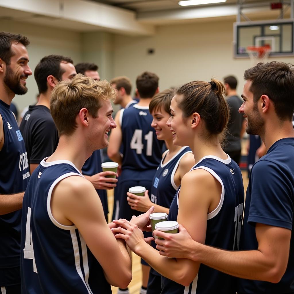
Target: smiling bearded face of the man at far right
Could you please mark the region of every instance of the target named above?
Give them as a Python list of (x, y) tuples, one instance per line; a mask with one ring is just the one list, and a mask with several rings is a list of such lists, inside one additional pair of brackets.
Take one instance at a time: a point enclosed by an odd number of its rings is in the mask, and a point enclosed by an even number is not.
[(250, 135), (262, 135), (264, 132), (264, 120), (260, 115), (258, 103), (253, 101), (253, 93), (250, 91), (251, 81), (246, 81), (241, 95), (244, 102), (239, 108), (246, 119), (246, 133)]

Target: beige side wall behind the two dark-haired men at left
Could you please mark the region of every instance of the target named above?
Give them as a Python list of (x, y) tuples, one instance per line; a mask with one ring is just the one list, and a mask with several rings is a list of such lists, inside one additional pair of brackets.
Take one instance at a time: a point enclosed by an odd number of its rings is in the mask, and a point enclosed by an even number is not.
[(81, 61), (80, 33), (10, 20), (1, 20), (1, 31), (22, 34), (31, 41), (28, 53), (29, 66), (33, 74), (27, 79), (28, 92), (25, 95), (16, 95), (13, 99), (19, 111), (27, 105), (35, 103), (38, 87), (34, 79), (34, 69), (42, 57), (49, 54), (60, 54), (70, 56), (75, 63)]

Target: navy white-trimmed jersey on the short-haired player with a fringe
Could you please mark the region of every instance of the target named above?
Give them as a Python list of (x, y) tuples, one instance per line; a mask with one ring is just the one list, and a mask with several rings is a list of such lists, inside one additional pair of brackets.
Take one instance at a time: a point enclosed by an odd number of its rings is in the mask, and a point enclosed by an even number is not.
[(190, 147), (182, 147), (173, 158), (163, 164), (165, 154), (153, 178), (151, 202), (167, 208), (171, 206), (178, 189), (174, 182), (174, 176), (182, 157), (187, 153), (192, 153)]

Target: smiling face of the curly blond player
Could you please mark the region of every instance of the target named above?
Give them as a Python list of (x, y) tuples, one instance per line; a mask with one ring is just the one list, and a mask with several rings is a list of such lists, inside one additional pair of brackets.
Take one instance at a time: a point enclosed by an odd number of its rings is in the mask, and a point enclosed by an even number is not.
[(91, 142), (93, 150), (108, 146), (108, 132), (116, 128), (116, 123), (112, 118), (113, 109), (109, 99), (101, 100), (101, 107), (98, 109), (97, 117), (93, 118), (93, 126), (90, 128)]

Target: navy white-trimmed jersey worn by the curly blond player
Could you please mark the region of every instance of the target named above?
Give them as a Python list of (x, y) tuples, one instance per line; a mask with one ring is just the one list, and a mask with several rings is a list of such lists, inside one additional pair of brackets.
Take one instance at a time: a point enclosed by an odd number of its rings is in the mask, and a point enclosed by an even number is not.
[(41, 161), (24, 194), (21, 234), (22, 293), (111, 293), (103, 269), (75, 225), (58, 223), (51, 194), (62, 179), (82, 176), (70, 161)]

